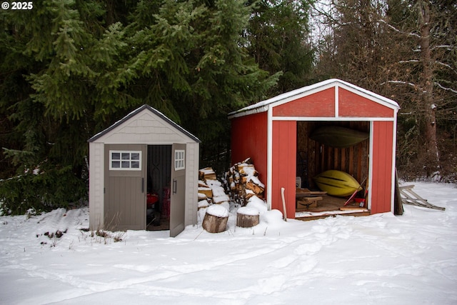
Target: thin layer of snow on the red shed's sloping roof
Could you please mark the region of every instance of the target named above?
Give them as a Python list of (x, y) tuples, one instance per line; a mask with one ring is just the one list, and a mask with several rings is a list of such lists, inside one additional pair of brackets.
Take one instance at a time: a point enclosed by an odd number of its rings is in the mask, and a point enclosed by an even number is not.
[(293, 96), (300, 96), (301, 94), (304, 94), (308, 91), (319, 89), (321, 87), (331, 87), (331, 85), (338, 84), (339, 86), (346, 87), (346, 89), (349, 89), (350, 91), (359, 91), (363, 94), (367, 94), (368, 96), (372, 96), (373, 99), (378, 99), (383, 102), (385, 102), (388, 105), (391, 105), (392, 108), (397, 108), (399, 109), (400, 107), (398, 106), (396, 101), (393, 101), (391, 99), (386, 98), (385, 96), (381, 96), (379, 94), (376, 94), (374, 92), (368, 91), (366, 89), (363, 89), (359, 86), (356, 86), (354, 84), (348, 83), (347, 81), (342, 81), (341, 79), (328, 79), (326, 81), (321, 81), (316, 84), (312, 84), (309, 86), (304, 86), (299, 89), (295, 89), (292, 91), (285, 92), (283, 94), (279, 94), (278, 96), (273, 96), (271, 99), (266, 99), (264, 101), (259, 101), (256, 104), (252, 104), (250, 106), (246, 106), (242, 109), (233, 111), (229, 113), (229, 119), (236, 117), (236, 116), (245, 116), (248, 114), (256, 114), (259, 112), (264, 112), (267, 111), (268, 108), (270, 107), (271, 104), (276, 103), (278, 101), (283, 101), (284, 99), (290, 99)]

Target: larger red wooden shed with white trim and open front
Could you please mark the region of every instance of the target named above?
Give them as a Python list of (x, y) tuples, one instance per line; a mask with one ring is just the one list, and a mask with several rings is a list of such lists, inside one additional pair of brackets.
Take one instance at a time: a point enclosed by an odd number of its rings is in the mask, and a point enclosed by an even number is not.
[[(251, 157), (271, 209), (283, 210), (284, 188), (288, 218), (296, 217), (297, 183), (317, 189), (313, 177), (327, 170), (350, 174), (363, 186), (365, 211), (393, 211), (398, 109), (395, 101), (339, 79), (305, 86), (229, 114), (231, 161)], [(367, 139), (349, 147), (311, 139), (324, 126)]]

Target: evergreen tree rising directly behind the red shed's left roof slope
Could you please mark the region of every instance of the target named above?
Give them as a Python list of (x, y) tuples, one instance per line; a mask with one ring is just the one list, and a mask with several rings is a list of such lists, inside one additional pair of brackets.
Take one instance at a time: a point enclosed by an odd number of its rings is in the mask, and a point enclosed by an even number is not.
[(261, 69), (282, 71), (270, 96), (305, 86), (313, 79), (308, 28), (310, 0), (258, 1), (246, 31), (248, 50)]

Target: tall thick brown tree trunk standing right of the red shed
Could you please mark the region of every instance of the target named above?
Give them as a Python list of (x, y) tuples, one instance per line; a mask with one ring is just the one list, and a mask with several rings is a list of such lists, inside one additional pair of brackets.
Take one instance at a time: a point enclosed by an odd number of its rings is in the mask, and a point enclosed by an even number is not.
[(418, 0), (421, 26), (421, 61), (423, 64), (423, 106), (425, 110), (426, 174), (431, 176), (439, 169), (439, 152), (436, 140), (436, 104), (433, 101), (433, 67), (430, 49), (430, 6), (429, 0)]

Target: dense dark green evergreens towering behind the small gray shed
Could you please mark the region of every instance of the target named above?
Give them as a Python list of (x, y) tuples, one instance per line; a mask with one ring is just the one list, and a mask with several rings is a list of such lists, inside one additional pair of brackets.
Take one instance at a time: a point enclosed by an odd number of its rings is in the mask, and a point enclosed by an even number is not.
[(87, 139), (141, 104), (199, 136), (204, 154), (226, 149), (226, 114), (278, 78), (246, 51), (251, 6), (239, 0), (46, 0), (0, 14), (1, 146), (16, 168), (0, 201), (13, 213), (84, 197)]

